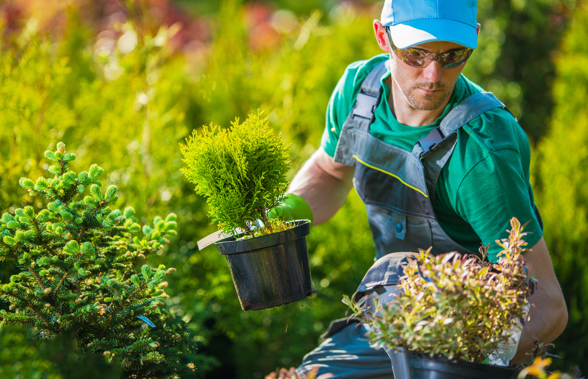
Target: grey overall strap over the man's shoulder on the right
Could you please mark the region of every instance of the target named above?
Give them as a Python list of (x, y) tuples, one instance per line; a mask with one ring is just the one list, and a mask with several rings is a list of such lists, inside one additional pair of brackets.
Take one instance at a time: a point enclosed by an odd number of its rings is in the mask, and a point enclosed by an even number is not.
[(413, 153), (419, 159), (425, 159), (452, 139), (457, 129), (493, 108), (508, 110), (492, 92), (479, 92), (468, 96), (447, 113), (441, 125), (431, 130), (426, 137), (418, 140)]

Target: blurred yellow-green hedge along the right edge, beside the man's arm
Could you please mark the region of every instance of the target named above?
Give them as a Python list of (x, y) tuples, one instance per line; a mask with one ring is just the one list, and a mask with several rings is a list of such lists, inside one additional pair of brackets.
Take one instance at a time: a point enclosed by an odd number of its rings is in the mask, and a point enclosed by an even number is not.
[(567, 328), (557, 338), (552, 368), (569, 370), (588, 361), (588, 8), (575, 12), (556, 59), (551, 129), (533, 162), (537, 204), (544, 237), (562, 284), (569, 312)]

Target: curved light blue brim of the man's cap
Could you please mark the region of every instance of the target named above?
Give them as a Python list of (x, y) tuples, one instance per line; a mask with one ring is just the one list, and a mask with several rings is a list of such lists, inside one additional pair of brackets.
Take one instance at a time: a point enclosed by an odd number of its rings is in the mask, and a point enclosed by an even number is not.
[(459, 43), (470, 49), (477, 47), (475, 26), (446, 18), (425, 18), (390, 26), (392, 41), (399, 49), (430, 41)]

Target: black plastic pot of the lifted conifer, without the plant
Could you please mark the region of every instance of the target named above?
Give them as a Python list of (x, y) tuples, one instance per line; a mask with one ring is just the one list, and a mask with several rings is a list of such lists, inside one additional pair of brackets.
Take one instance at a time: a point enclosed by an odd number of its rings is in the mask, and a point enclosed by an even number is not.
[(278, 307), (312, 296), (305, 238), (310, 221), (292, 223), (295, 227), (283, 232), (215, 243), (229, 264), (243, 310)]

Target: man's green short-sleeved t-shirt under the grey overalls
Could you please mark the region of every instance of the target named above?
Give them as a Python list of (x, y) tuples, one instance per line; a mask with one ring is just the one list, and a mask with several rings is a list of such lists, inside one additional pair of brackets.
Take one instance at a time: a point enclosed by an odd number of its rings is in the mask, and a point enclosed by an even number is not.
[[(343, 123), (355, 104), (363, 79), (387, 54), (376, 55), (367, 61), (348, 66), (329, 100), (326, 128), (321, 145), (333, 157)], [(407, 126), (399, 123), (388, 102), (390, 88), (381, 82), (385, 96), (375, 111), (375, 122), (370, 133), (402, 149), (413, 146), (460, 101), (473, 93), (483, 92), (480, 86), (465, 76), (457, 79), (455, 90), (435, 123), (426, 126)], [(332, 130), (332, 128), (334, 128)], [(480, 243), (490, 244), (489, 259), (501, 250), (496, 239), (506, 238), (510, 219), (530, 220), (525, 240), (532, 247), (543, 233), (534, 214), (533, 190), (529, 183), (530, 146), (527, 136), (516, 119), (505, 109), (495, 108), (482, 113), (457, 130), (453, 154), (443, 167), (435, 188), (433, 210), (440, 226), (455, 242), (466, 249), (477, 251)]]

